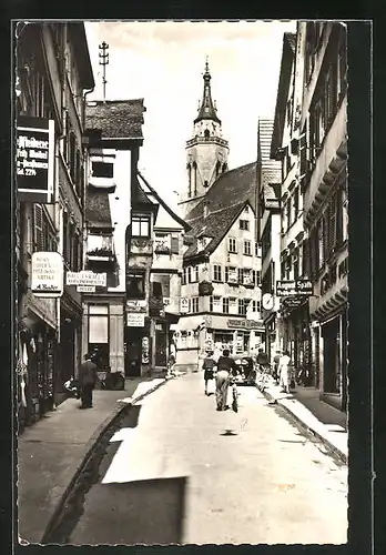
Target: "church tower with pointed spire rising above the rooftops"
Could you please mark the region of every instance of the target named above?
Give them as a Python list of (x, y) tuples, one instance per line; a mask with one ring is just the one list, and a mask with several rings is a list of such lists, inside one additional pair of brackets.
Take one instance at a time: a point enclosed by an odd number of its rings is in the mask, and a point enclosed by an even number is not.
[(186, 141), (186, 188), (179, 203), (186, 215), (205, 195), (215, 179), (227, 170), (228, 143), (222, 138), (221, 120), (212, 100), (206, 58), (203, 98), (194, 120), (193, 137)]

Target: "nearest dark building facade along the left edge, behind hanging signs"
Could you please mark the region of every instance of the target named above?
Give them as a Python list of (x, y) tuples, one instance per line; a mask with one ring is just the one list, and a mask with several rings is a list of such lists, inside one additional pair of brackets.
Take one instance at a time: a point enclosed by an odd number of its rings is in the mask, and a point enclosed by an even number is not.
[[(82, 264), (84, 103), (94, 80), (83, 23), (19, 22), (16, 37), (18, 393), (22, 428), (64, 398), (63, 384), (80, 361), (80, 295), (65, 285), (61, 297), (37, 295), (31, 279), (38, 252), (59, 253), (64, 271), (77, 271)], [(34, 142), (43, 150), (19, 148), (26, 129), (32, 127), (39, 135), (39, 128), (45, 125), (53, 132), (49, 153), (44, 141)], [(27, 170), (21, 169), (24, 165)], [(28, 185), (30, 190), (20, 186), (19, 175), (38, 180), (44, 168), (50, 194), (44, 196), (41, 182)]]

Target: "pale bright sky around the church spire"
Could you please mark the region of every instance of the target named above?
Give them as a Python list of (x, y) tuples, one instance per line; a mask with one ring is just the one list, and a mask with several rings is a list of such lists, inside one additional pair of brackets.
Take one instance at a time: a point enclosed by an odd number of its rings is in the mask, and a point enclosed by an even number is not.
[(105, 41), (106, 100), (144, 99), (139, 169), (172, 208), (187, 186), (185, 142), (206, 56), (228, 168), (256, 159), (257, 120), (274, 117), (283, 33), (295, 32), (294, 21), (109, 21), (87, 22), (85, 30), (96, 82), (88, 99), (103, 98), (98, 47)]

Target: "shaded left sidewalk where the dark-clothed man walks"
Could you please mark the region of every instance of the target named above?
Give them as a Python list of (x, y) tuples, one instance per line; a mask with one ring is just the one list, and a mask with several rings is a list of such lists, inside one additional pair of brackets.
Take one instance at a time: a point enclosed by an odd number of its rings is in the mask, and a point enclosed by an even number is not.
[(91, 410), (68, 398), (18, 440), (19, 541), (40, 543), (50, 518), (71, 487), (99, 436), (128, 406), (158, 389), (164, 379), (125, 381), (124, 391), (95, 390)]

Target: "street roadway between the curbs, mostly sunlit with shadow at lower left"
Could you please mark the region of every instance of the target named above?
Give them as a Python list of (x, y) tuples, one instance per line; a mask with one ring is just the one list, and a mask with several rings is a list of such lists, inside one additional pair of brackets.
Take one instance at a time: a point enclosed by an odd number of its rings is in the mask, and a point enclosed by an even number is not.
[(216, 412), (202, 373), (145, 397), (111, 438), (72, 544), (344, 544), (346, 467), (240, 387)]

